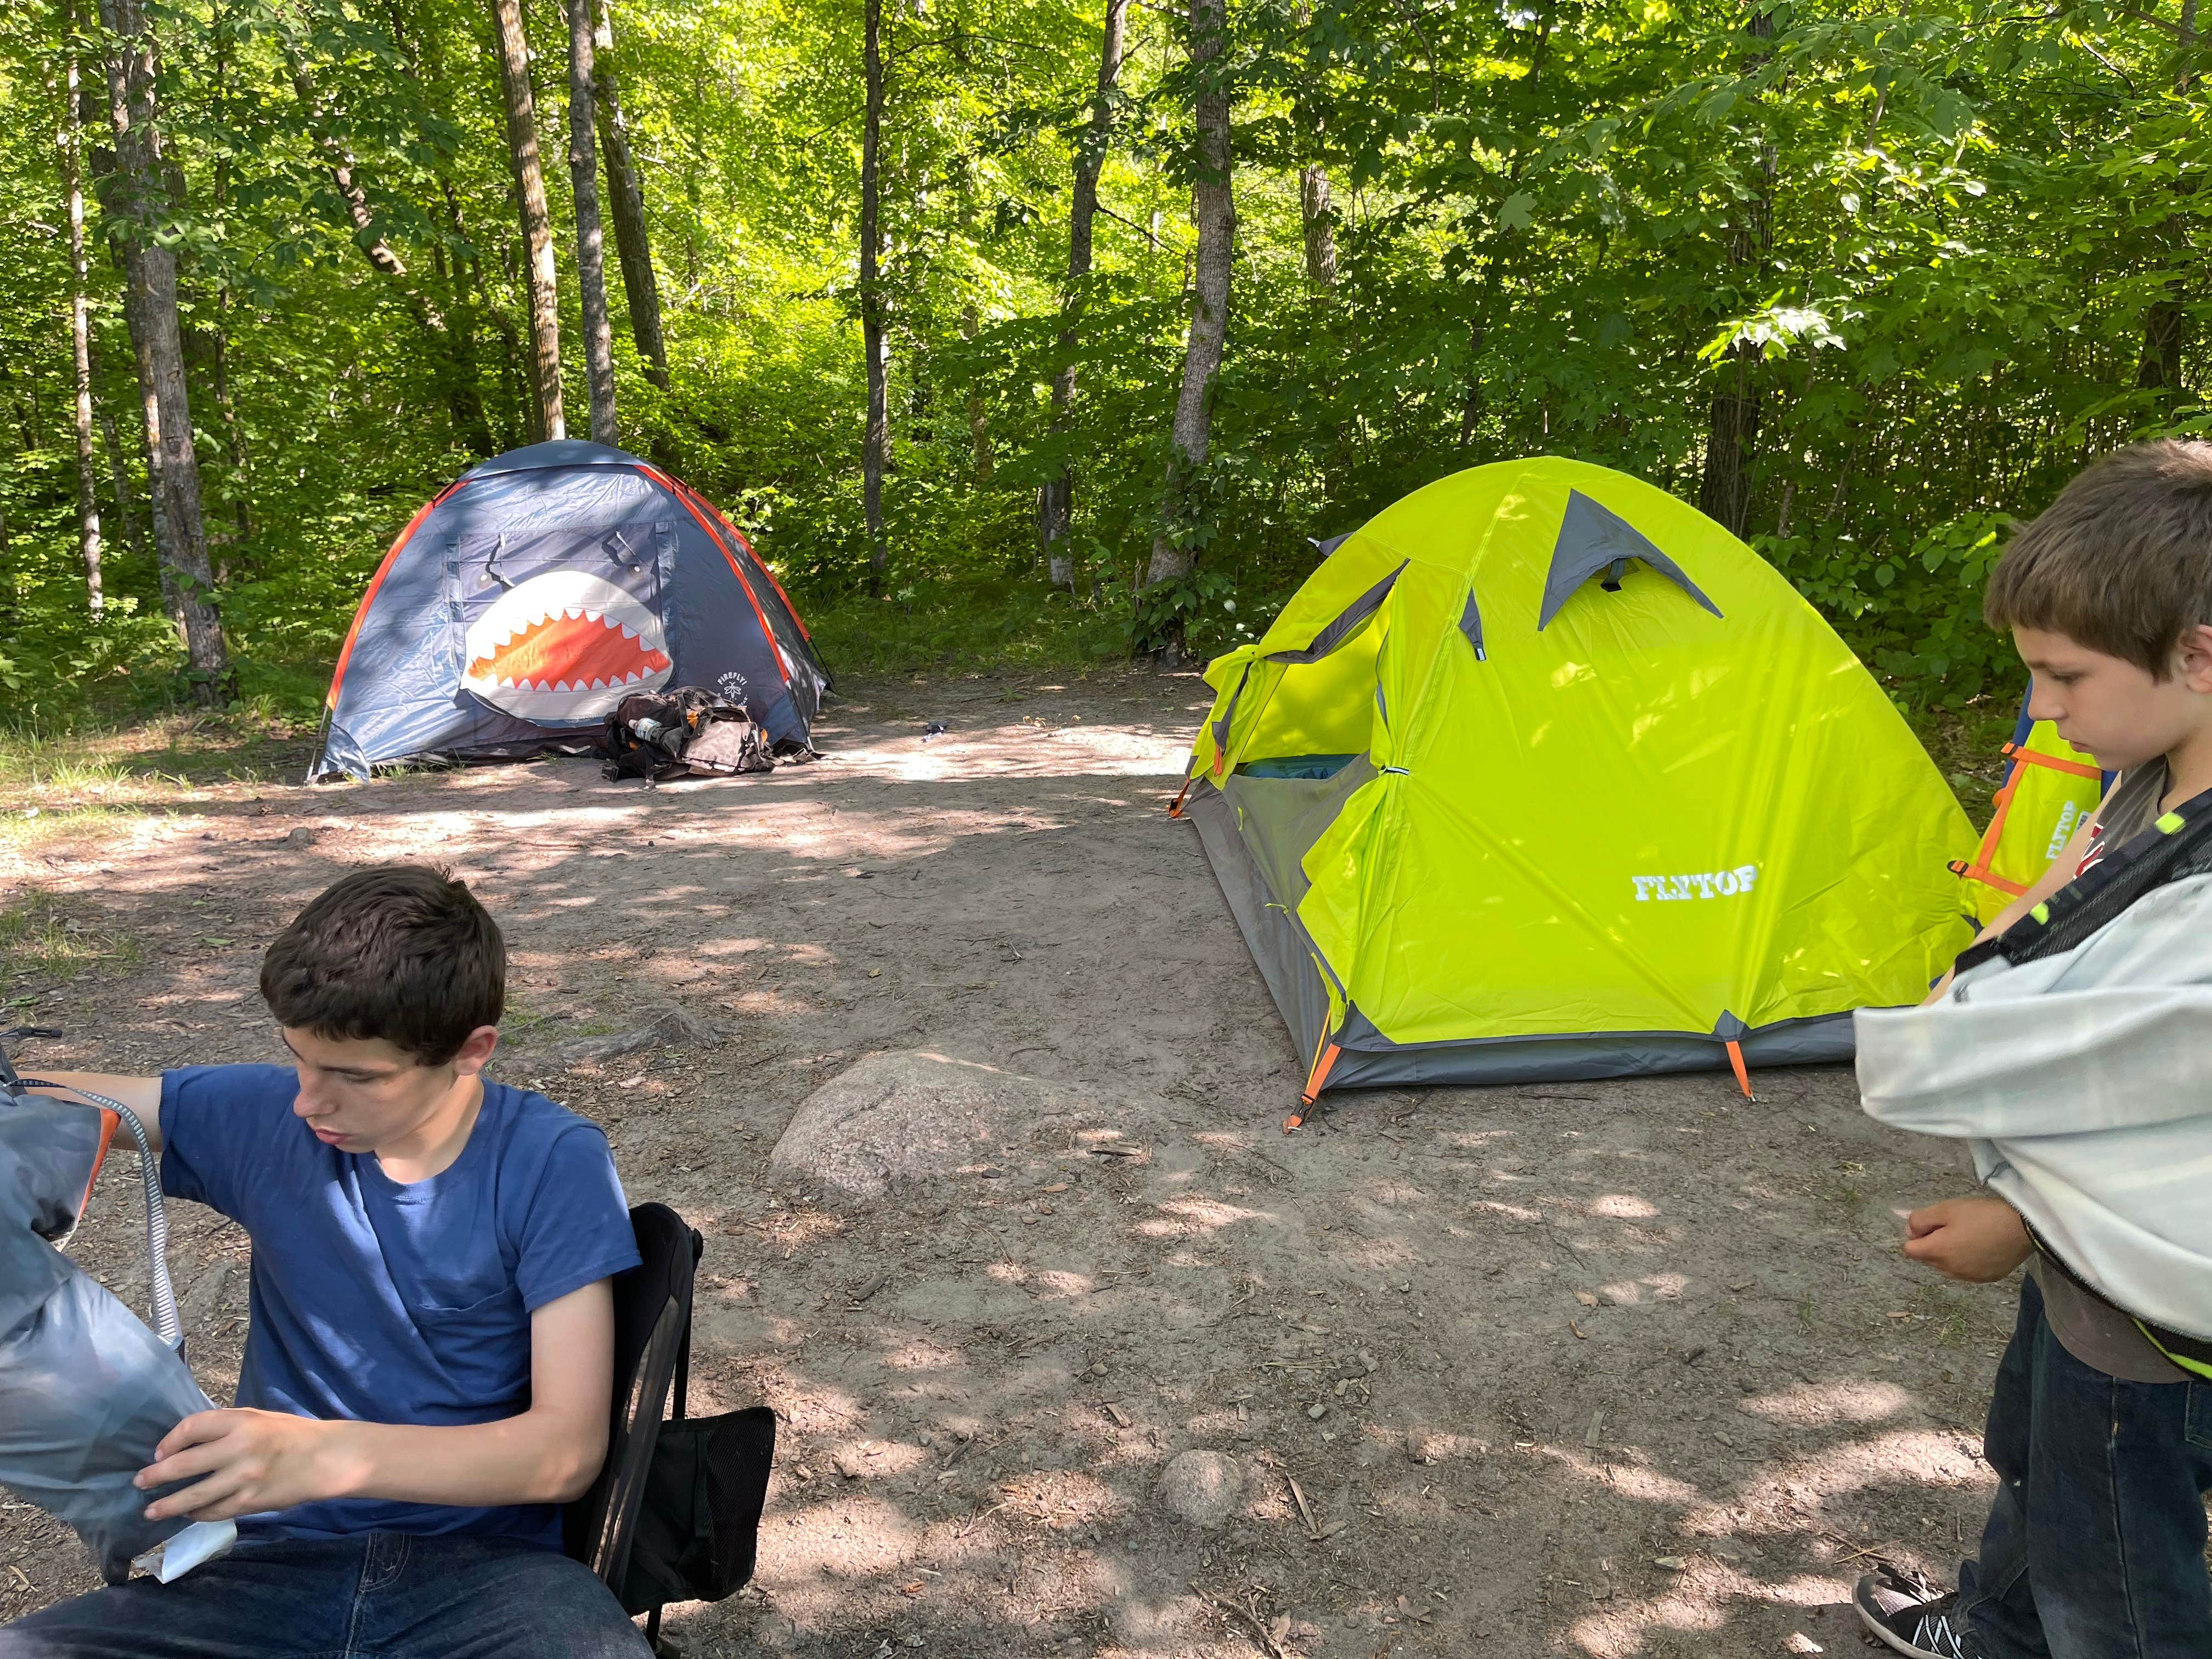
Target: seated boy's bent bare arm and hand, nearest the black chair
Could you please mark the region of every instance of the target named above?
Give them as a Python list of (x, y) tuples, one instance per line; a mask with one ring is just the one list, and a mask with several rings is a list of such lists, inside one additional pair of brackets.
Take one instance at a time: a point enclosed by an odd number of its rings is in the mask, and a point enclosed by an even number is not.
[(150, 1504), (148, 1520), (232, 1520), (330, 1498), (564, 1504), (584, 1495), (606, 1460), (613, 1394), (615, 1296), (599, 1279), (531, 1314), (531, 1405), (520, 1416), (425, 1429), (201, 1411), (168, 1431), (137, 1484), (199, 1478)]

